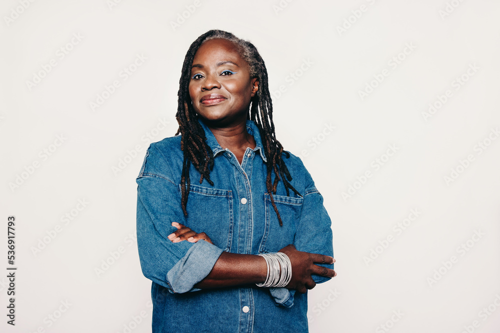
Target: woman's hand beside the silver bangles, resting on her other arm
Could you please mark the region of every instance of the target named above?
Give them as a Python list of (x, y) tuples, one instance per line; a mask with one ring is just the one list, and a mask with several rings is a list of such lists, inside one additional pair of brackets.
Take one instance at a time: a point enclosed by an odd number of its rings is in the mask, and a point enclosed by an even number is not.
[(335, 262), (335, 259), (332, 257), (300, 252), (292, 244), (285, 246), (278, 252), (287, 255), (291, 263), (291, 281), (285, 288), (295, 289), (297, 292), (304, 294), (307, 289), (312, 289), (316, 286), (316, 283), (312, 280), (312, 274), (330, 278), (337, 275), (334, 270), (314, 265), (314, 263), (332, 264)]

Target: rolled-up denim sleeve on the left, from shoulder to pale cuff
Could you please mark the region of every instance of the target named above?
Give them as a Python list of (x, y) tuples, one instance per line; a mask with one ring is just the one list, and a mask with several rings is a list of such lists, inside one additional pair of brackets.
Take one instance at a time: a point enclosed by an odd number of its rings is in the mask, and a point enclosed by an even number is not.
[[(159, 156), (158, 156), (159, 155)], [(178, 186), (168, 178), (167, 163), (151, 145), (136, 179), (137, 248), (142, 273), (171, 293), (198, 291), (193, 286), (210, 273), (222, 253), (218, 247), (198, 241), (172, 243), (167, 236), (185, 224)]]

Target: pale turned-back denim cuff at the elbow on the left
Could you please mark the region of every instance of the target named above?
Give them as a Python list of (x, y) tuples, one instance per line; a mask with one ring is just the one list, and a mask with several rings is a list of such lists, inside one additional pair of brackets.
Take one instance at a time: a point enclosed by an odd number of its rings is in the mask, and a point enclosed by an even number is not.
[(203, 240), (191, 246), (166, 274), (166, 280), (171, 293), (195, 292), (201, 289), (193, 288), (203, 280), (215, 265), (223, 251)]

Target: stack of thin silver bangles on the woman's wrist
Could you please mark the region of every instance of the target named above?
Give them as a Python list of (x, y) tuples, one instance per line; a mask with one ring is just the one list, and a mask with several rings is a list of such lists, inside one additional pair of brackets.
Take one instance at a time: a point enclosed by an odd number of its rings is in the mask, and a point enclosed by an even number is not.
[(291, 280), (291, 263), (287, 255), (282, 252), (260, 253), (267, 265), (267, 277), (264, 283), (255, 284), (257, 287), (284, 287)]

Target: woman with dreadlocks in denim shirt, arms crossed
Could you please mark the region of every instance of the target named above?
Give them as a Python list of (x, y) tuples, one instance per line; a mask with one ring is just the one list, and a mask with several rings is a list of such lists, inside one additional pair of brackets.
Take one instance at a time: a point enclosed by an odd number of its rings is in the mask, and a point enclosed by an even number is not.
[(136, 180), (153, 332), (307, 332), (306, 291), (335, 276), (330, 219), (276, 140), (262, 58), (210, 30), (179, 83), (181, 135), (151, 144)]

